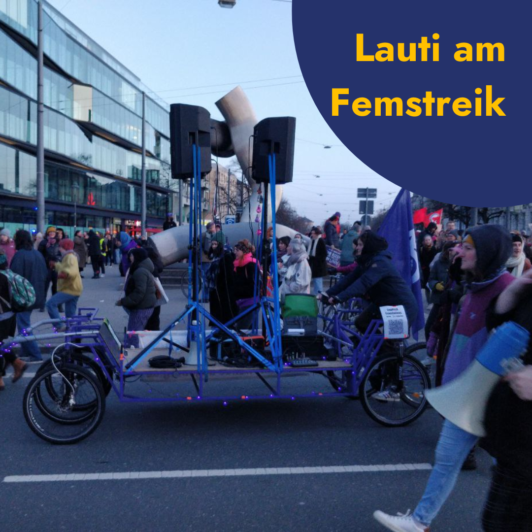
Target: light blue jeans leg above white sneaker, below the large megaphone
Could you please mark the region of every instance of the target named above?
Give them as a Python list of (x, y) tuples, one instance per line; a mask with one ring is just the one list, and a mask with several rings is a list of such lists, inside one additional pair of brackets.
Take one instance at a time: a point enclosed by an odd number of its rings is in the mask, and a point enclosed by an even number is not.
[(478, 437), (465, 432), (451, 421), (443, 422), (436, 445), (436, 460), (425, 493), (413, 513), (423, 525), (430, 525), (452, 492), (462, 464)]

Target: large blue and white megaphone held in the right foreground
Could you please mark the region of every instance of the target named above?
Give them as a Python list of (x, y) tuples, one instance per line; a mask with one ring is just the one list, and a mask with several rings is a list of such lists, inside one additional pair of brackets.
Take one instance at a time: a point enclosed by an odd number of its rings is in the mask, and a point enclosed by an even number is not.
[(469, 367), (450, 383), (427, 390), (427, 401), (445, 419), (470, 434), (483, 437), (489, 395), (505, 373), (505, 360), (518, 358), (530, 334), (513, 321), (498, 327)]

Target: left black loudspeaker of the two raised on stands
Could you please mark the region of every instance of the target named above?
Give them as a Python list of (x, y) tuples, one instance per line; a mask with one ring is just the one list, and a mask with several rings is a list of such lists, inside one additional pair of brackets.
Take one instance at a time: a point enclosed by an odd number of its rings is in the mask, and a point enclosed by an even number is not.
[(194, 173), (192, 145), (201, 148), (201, 174), (211, 171), (211, 115), (197, 105), (170, 105), (172, 178), (190, 179)]

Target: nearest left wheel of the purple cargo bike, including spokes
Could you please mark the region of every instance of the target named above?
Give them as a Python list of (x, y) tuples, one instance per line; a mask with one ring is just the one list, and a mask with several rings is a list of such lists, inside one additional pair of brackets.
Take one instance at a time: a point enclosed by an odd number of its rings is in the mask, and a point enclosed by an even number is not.
[[(48, 394), (52, 383), (54, 397)], [(93, 404), (90, 410), (74, 406)], [(50, 443), (76, 443), (97, 428), (105, 412), (102, 384), (94, 373), (77, 364), (64, 364), (61, 372), (53, 366), (36, 375), (23, 398), (24, 418), (39, 438)], [(53, 414), (53, 415), (51, 415)]]

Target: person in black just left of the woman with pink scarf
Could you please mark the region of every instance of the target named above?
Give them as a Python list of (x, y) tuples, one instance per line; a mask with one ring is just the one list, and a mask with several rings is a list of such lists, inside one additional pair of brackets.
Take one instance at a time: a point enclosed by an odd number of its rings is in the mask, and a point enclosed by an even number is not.
[[(209, 269), (205, 282), (209, 290), (209, 312), (220, 323), (226, 323), (238, 314), (235, 298), (235, 273), (232, 254), (218, 240), (211, 242)], [(214, 323), (210, 323), (214, 325)]]

